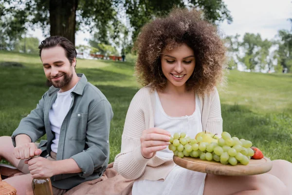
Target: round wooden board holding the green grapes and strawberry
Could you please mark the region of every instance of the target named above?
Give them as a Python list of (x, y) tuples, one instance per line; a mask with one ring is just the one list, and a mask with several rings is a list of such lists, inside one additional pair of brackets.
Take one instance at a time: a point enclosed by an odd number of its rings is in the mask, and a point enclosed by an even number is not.
[(186, 169), (207, 174), (222, 176), (251, 176), (267, 173), (272, 169), (272, 161), (269, 158), (250, 159), (248, 165), (237, 164), (223, 165), (216, 161), (201, 160), (200, 158), (173, 156), (173, 161)]

